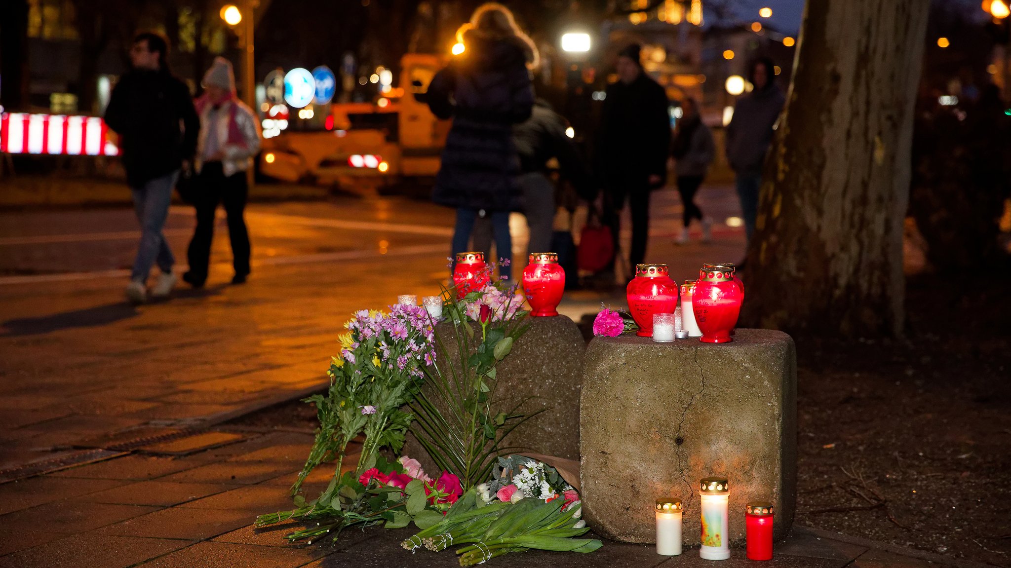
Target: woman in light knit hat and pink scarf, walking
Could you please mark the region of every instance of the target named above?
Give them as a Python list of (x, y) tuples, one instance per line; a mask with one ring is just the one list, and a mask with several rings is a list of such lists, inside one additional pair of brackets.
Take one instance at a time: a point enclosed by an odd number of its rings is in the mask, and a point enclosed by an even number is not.
[(224, 204), (227, 215), (236, 269), (232, 283), (242, 284), (249, 276), (250, 238), (243, 218), (249, 197), (246, 173), (260, 151), (259, 121), (253, 110), (236, 97), (236, 78), (228, 60), (214, 58), (202, 84), (204, 93), (196, 100), (200, 115), (195, 163), (196, 230), (187, 250), (189, 272), (183, 275), (183, 280), (194, 288), (203, 286), (207, 280), (218, 203)]

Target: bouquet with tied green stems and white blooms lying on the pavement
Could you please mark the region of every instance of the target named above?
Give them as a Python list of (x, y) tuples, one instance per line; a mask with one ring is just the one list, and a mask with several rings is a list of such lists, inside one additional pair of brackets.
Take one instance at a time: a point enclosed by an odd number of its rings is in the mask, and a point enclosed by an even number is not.
[(523, 456), (509, 456), (498, 459), (495, 479), (470, 489), (445, 518), (404, 540), (401, 546), (410, 551), (424, 547), (438, 552), (466, 545), (456, 551), (461, 566), (530, 549), (592, 552), (601, 548), (601, 541), (572, 538), (589, 531), (586, 522), (579, 518), (581, 513), (579, 493), (565, 484), (554, 468)]

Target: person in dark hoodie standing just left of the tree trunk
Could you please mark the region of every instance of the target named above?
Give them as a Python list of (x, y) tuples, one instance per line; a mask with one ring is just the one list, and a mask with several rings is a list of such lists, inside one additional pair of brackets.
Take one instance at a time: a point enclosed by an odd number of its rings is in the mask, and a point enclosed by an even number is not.
[(748, 241), (755, 230), (758, 188), (765, 153), (772, 143), (772, 130), (786, 98), (772, 80), (772, 60), (759, 58), (751, 63), (748, 81), (751, 92), (737, 99), (734, 116), (727, 124), (726, 151), (730, 168), (737, 177), (744, 231)]

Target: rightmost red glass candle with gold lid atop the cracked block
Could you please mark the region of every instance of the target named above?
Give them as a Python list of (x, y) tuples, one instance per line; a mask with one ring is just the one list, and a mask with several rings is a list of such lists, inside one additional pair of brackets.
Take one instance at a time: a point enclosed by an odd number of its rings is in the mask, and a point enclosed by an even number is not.
[(703, 269), (692, 294), (692, 310), (707, 344), (732, 342), (730, 332), (741, 312), (741, 290), (725, 268)]

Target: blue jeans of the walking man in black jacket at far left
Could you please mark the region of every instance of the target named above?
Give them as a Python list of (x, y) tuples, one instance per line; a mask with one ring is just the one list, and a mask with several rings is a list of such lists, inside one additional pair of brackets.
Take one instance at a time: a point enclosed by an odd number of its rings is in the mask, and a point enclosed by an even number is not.
[(137, 245), (130, 280), (146, 282), (156, 261), (158, 268), (165, 274), (172, 272), (172, 265), (176, 264), (162, 227), (169, 216), (172, 190), (178, 178), (179, 170), (176, 170), (167, 176), (148, 180), (143, 187), (130, 188), (133, 194), (133, 211), (136, 213), (136, 220), (141, 221), (141, 243)]

